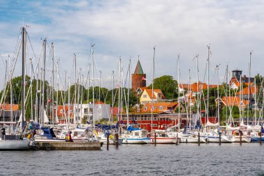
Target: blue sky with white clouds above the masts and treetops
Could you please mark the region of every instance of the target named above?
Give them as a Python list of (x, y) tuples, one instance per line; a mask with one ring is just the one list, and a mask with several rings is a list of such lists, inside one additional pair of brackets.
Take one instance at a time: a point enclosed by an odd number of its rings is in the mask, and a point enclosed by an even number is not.
[[(87, 79), (91, 45), (94, 45), (96, 68), (94, 78), (101, 85), (111, 86), (112, 70), (118, 72), (119, 58), (126, 75), (129, 59), (134, 71), (138, 56), (147, 84), (151, 83), (155, 52), (155, 77), (165, 74), (177, 79), (177, 58), (180, 56), (181, 83), (197, 81), (193, 59), (199, 54), (199, 77), (206, 79), (208, 45), (210, 45), (210, 82), (217, 83), (215, 66), (220, 65), (219, 81), (229, 71), (248, 74), (251, 54), (251, 75), (263, 75), (264, 65), (264, 1), (261, 0), (142, 0), (142, 1), (24, 1), (0, 0), (0, 87), (3, 87), (8, 55), (14, 55), (22, 26), (28, 32), (27, 63), (33, 65), (41, 55), (47, 38), (47, 80), (51, 77), (51, 42), (55, 62), (60, 60), (60, 88), (64, 75), (74, 80), (73, 58)], [(31, 45), (29, 44), (31, 42)], [(42, 62), (42, 58), (41, 58)], [(21, 75), (21, 56), (14, 76)], [(27, 66), (27, 74), (30, 74)], [(56, 76), (57, 77), (57, 76)], [(117, 79), (117, 77), (115, 77)], [(68, 80), (67, 80), (68, 81)]]

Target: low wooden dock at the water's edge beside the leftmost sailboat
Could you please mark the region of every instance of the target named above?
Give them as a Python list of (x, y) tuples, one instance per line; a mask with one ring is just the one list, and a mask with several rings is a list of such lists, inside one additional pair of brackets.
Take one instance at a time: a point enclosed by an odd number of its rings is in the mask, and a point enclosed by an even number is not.
[(101, 150), (99, 142), (36, 142), (36, 150)]

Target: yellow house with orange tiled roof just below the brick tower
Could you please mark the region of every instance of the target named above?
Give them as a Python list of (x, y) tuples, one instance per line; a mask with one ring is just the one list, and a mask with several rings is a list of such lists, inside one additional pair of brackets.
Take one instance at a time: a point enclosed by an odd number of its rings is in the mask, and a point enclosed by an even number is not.
[[(152, 101), (152, 90), (151, 89), (145, 89), (140, 96), (140, 104), (146, 104), (151, 103)], [(153, 90), (153, 101), (156, 102), (163, 102), (165, 101), (165, 96), (163, 95), (163, 92), (161, 92), (160, 89), (154, 89)]]

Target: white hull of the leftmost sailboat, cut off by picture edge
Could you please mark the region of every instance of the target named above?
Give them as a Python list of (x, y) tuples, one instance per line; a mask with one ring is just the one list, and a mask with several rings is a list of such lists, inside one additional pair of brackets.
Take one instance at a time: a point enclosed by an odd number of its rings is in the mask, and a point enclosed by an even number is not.
[(22, 140), (1, 140), (0, 150), (28, 150), (29, 142), (27, 138)]

